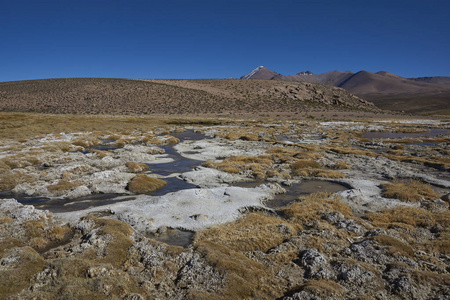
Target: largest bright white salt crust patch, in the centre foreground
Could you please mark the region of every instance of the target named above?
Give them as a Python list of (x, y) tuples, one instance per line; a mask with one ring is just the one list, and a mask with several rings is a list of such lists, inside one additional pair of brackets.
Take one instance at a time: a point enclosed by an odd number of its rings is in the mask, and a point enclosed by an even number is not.
[(273, 197), (280, 189), (277, 184), (265, 184), (252, 189), (217, 187), (181, 190), (160, 197), (139, 195), (136, 200), (57, 215), (65, 221), (74, 222), (95, 211), (111, 210), (114, 212), (112, 217), (127, 222), (139, 231), (155, 231), (161, 226), (199, 230), (237, 219), (242, 208), (264, 208), (263, 201)]

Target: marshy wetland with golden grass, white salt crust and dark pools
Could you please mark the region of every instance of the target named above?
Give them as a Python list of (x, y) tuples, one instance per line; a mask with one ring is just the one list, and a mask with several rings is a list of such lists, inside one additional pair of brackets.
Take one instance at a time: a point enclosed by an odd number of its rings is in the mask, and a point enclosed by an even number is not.
[(450, 294), (445, 119), (0, 125), (1, 299)]

